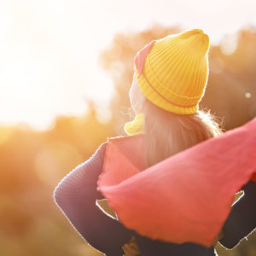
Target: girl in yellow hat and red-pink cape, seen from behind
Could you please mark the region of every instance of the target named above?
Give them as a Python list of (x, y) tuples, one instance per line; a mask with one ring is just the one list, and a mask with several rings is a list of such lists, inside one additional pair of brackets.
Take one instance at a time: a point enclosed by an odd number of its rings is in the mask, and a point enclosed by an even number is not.
[[(223, 136), (212, 115), (198, 108), (208, 48), (207, 34), (193, 29), (140, 50), (129, 136), (108, 139), (55, 188), (55, 202), (73, 227), (108, 256), (216, 255), (219, 238), (234, 247), (256, 226), (256, 119)], [(230, 157), (235, 166), (227, 165)], [(245, 183), (245, 196), (230, 212)], [(117, 219), (96, 206), (103, 198)]]

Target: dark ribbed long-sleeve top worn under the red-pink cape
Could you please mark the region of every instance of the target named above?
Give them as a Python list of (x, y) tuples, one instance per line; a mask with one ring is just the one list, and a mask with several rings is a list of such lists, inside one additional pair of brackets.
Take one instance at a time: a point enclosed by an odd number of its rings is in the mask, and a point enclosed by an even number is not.
[[(135, 236), (142, 256), (178, 255), (178, 256), (213, 256), (213, 247), (202, 247), (195, 243), (176, 244), (151, 240), (140, 236), (135, 230), (127, 229), (117, 219), (108, 216), (96, 206), (96, 200), (103, 199), (97, 191), (97, 179), (102, 173), (104, 155), (108, 143), (96, 150), (89, 160), (63, 177), (54, 191), (54, 200), (79, 235), (90, 246), (107, 256), (123, 255), (122, 246)], [(232, 248), (256, 227), (256, 183), (250, 181), (243, 188), (244, 195), (232, 207), (220, 242), (224, 247)]]

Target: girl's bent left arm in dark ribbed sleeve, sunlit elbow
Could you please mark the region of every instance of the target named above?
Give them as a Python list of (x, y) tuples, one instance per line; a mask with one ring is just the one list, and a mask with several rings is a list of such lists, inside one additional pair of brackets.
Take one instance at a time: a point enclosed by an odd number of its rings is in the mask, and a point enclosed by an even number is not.
[(103, 143), (89, 160), (69, 172), (55, 188), (53, 197), (85, 241), (108, 256), (116, 256), (123, 255), (122, 246), (131, 239), (131, 230), (96, 206), (96, 199), (103, 198), (96, 190), (96, 182), (106, 147), (107, 143)]

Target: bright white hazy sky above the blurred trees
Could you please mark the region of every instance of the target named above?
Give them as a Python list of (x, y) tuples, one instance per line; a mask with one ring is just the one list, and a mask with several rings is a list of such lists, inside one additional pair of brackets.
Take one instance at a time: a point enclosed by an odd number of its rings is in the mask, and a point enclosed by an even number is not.
[(113, 83), (98, 56), (117, 32), (201, 28), (213, 45), (256, 26), (255, 10), (254, 0), (0, 0), (0, 125), (44, 131), (86, 113), (86, 100), (103, 122)]

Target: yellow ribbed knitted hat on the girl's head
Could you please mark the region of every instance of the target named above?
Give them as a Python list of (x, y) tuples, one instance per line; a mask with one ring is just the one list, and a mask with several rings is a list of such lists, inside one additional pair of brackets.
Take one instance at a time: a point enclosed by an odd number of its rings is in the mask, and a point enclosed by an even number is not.
[(195, 113), (207, 85), (208, 49), (209, 38), (201, 29), (147, 44), (135, 57), (143, 96), (172, 113)]

